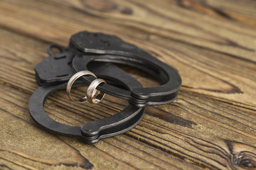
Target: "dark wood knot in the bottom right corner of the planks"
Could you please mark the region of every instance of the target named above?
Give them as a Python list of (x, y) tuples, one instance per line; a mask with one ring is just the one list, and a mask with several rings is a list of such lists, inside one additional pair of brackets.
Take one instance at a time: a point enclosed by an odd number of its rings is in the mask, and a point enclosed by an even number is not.
[(228, 141), (228, 148), (232, 154), (233, 165), (243, 169), (256, 169), (256, 147)]

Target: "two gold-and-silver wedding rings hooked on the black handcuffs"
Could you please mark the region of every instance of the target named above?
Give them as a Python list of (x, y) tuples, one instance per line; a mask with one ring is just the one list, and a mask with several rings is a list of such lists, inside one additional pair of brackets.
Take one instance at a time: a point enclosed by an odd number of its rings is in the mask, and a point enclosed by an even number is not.
[[(72, 86), (77, 79), (79, 79), (82, 76), (86, 76), (86, 75), (93, 76), (96, 79), (94, 81), (92, 81), (92, 83), (88, 86), (87, 93), (86, 93), (85, 97), (82, 97), (80, 99), (74, 99), (71, 95)], [(76, 74), (73, 75), (73, 77), (71, 77), (69, 79), (68, 84), (66, 86), (66, 91), (68, 93), (68, 97), (70, 98), (70, 100), (74, 101), (75, 103), (85, 103), (85, 102), (89, 101), (90, 103), (96, 104), (96, 103), (99, 103), (102, 100), (102, 98), (104, 98), (104, 96), (105, 96), (104, 92), (98, 91), (96, 89), (97, 86), (99, 86), (100, 84), (106, 84), (106, 81), (104, 79), (97, 79), (95, 74), (93, 74), (90, 71), (81, 71), (81, 72), (77, 72)]]

